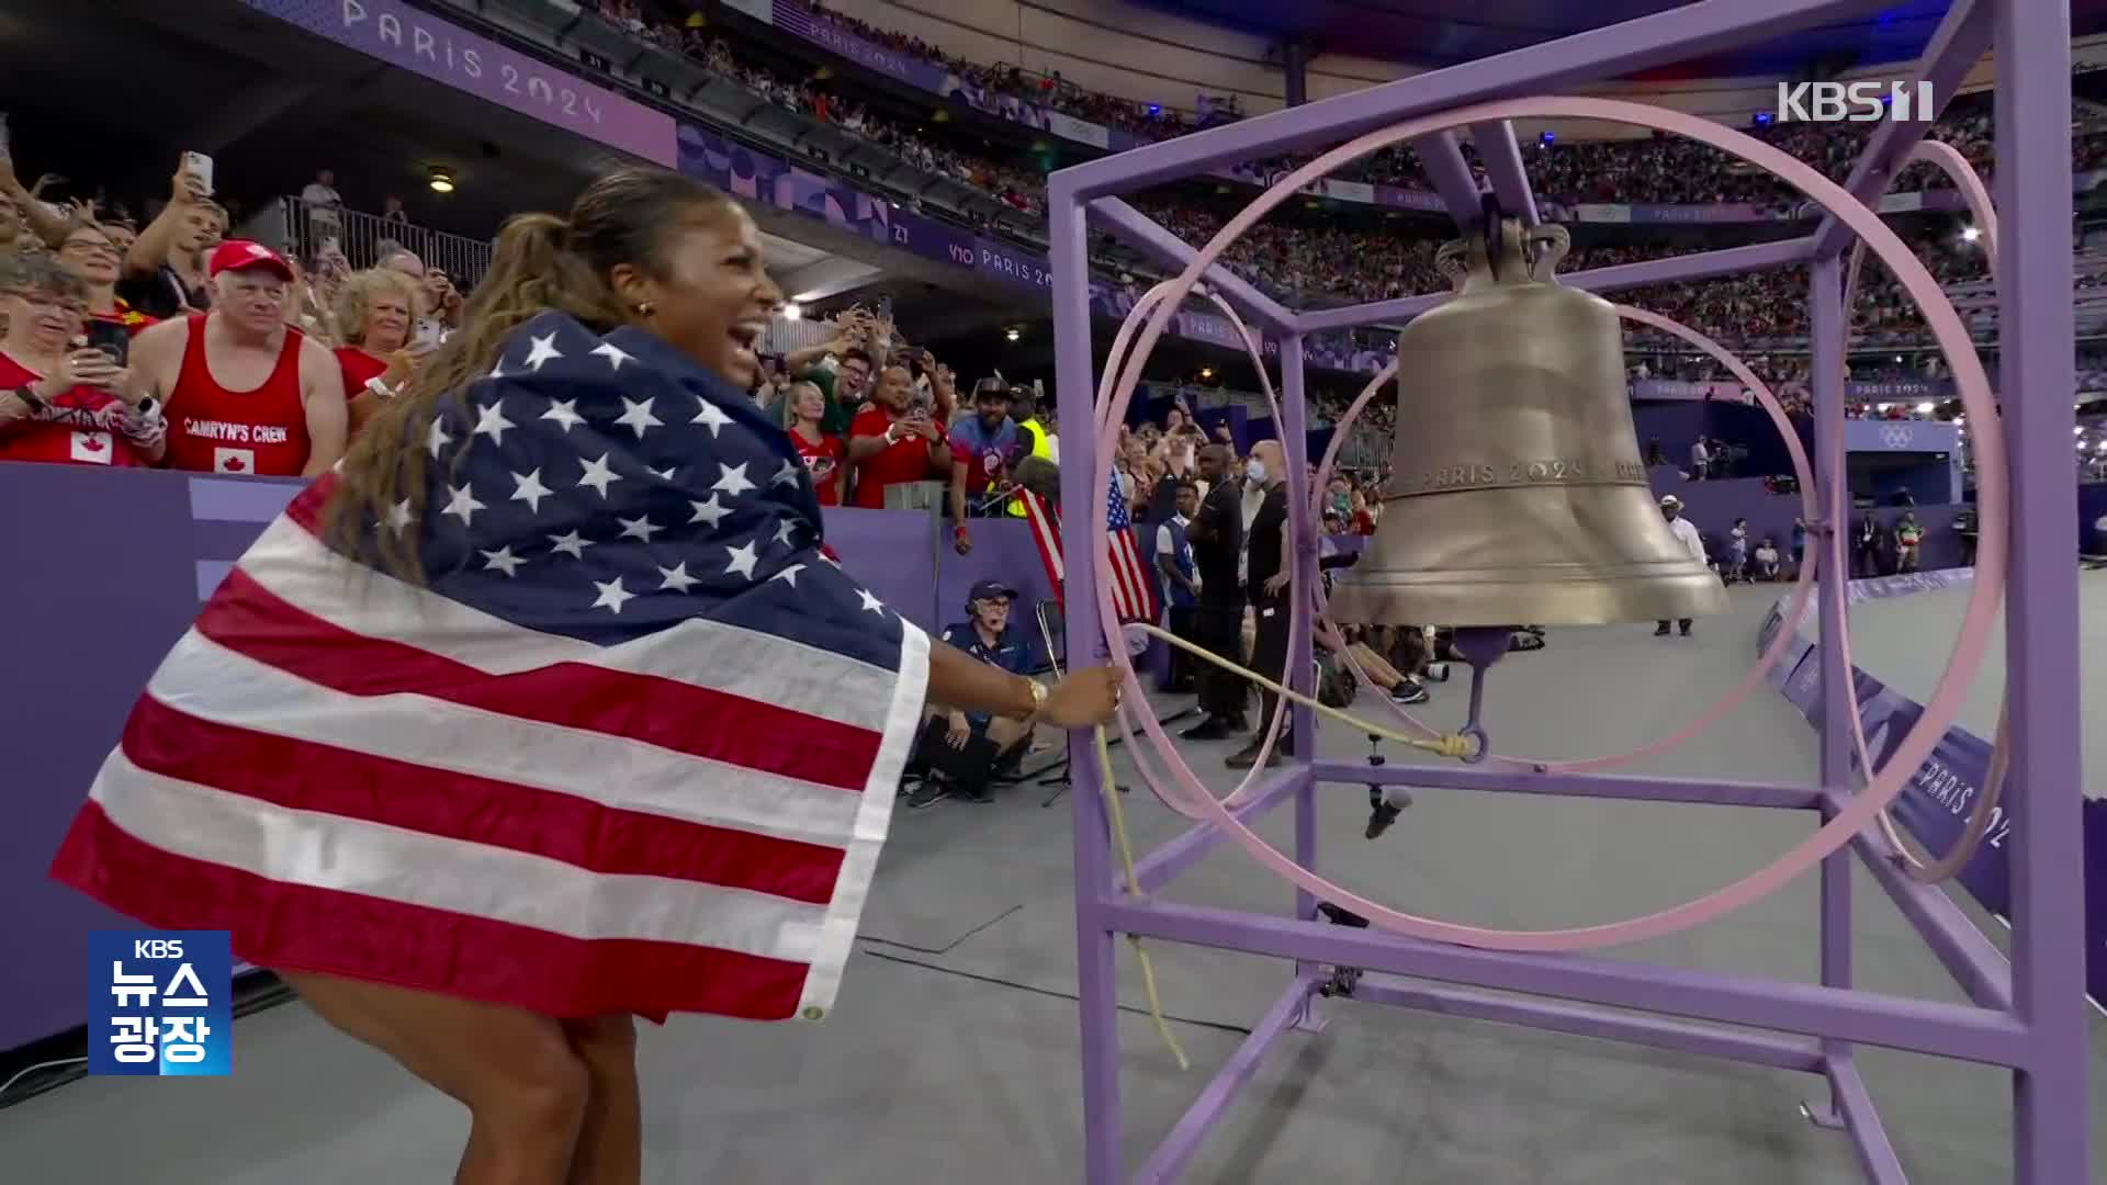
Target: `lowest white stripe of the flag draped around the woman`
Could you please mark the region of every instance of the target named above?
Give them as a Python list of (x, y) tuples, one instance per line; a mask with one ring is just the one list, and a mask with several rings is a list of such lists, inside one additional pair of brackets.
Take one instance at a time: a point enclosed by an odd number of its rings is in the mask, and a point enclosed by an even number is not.
[(445, 909), (571, 938), (636, 938), (809, 964), (820, 907), (289, 810), (150, 774), (118, 749), (91, 797), (137, 839), (272, 881)]

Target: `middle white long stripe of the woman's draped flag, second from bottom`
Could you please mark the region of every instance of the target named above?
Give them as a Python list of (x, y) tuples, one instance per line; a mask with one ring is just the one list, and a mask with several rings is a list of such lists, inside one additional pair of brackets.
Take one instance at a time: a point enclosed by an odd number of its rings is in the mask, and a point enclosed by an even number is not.
[[(775, 664), (769, 671), (782, 668)], [(917, 696), (923, 681), (914, 683)], [(858, 827), (862, 795), (855, 791), (430, 696), (352, 696), (257, 662), (196, 630), (175, 643), (147, 694), (215, 723), (575, 795), (617, 810), (830, 848), (845, 846)], [(710, 721), (695, 721), (695, 727), (710, 727)], [(476, 744), (464, 744), (468, 736)], [(885, 797), (891, 795), (887, 789)]]

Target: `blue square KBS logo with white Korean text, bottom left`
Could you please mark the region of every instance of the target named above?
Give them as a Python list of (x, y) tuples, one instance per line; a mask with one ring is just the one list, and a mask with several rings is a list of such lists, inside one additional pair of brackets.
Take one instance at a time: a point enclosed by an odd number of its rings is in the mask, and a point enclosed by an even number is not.
[(225, 930), (88, 932), (88, 1073), (232, 1073)]

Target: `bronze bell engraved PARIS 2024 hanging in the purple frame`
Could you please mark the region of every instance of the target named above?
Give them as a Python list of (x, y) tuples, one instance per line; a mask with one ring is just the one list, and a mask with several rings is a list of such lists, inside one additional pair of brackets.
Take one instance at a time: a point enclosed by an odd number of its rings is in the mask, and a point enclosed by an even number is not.
[(1488, 226), (1441, 247), (1456, 295), (1397, 335), (1382, 517), (1332, 616), (1589, 626), (1726, 609), (1646, 483), (1616, 310), (1553, 278), (1566, 228)]

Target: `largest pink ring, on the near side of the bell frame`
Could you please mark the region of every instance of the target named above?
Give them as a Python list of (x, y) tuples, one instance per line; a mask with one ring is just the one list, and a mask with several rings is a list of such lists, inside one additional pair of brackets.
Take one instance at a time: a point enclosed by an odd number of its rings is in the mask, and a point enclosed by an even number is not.
[[(1104, 512), (1106, 487), (1110, 483), (1110, 426), (1123, 415), (1125, 405), (1134, 396), (1134, 386), (1140, 380), (1140, 367), (1146, 365), (1157, 339), (1163, 335), (1163, 327), (1169, 323), (1169, 314), (1176, 302), (1184, 297), (1199, 280), (1201, 270), (1212, 266), (1222, 249), (1252, 228), (1260, 217), (1264, 217), (1273, 207), (1287, 200), (1289, 194), (1300, 190), (1315, 177), (1336, 169), (1344, 160), (1353, 160), (1376, 148), (1397, 143), (1401, 139), (1426, 135), (1456, 124), (1500, 120), (1500, 118), (1597, 118), (1612, 122), (1629, 122), (1639, 127), (1654, 127), (1662, 131), (1675, 131), (1688, 135), (1690, 139), (1711, 143), (1724, 152), (1736, 154), (1780, 179), (1793, 183), (1797, 190), (1825, 207), (1839, 221), (1858, 232), (1860, 238), (1869, 240), (1890, 270), (1903, 280), (1903, 287), (1911, 297), (1917, 299), (1924, 316), (1938, 339), (1941, 350), (1947, 354), (1949, 365), (1962, 394), (1962, 403), (1976, 415), (1983, 424), (1978, 436), (1978, 470), (1989, 479), (1978, 487), (1978, 506), (1983, 508), (1983, 536), (1976, 546), (1978, 576), (1970, 590), (1968, 611), (1962, 620), (1962, 633), (1955, 639), (1953, 654), (1947, 660), (1947, 668), (1941, 677), (1938, 689), (1930, 696), (1917, 723), (1903, 738), (1888, 768), (1873, 776), (1865, 793), (1854, 795), (1850, 805), (1837, 812), (1829, 822), (1825, 822), (1814, 835), (1806, 837), (1793, 846), (1785, 856), (1766, 865), (1764, 869), (1734, 881), (1709, 896), (1681, 902), (1677, 907), (1650, 913), (1643, 917), (1631, 917), (1624, 921), (1608, 926), (1584, 926), (1572, 930), (1488, 930), (1477, 926), (1458, 926), (1452, 921), (1439, 921), (1431, 917), (1416, 917), (1410, 913), (1399, 913), (1376, 905), (1359, 894), (1353, 894), (1323, 877), (1317, 877), (1308, 869), (1296, 865), (1294, 860), (1281, 856), (1277, 850), (1266, 846), (1258, 835), (1245, 829), (1230, 816), (1222, 803), (1218, 803), (1205, 786), (1193, 778), (1190, 768), (1176, 759), (1176, 749), (1163, 734), (1163, 727), (1153, 719), (1142, 717), (1142, 727), (1157, 744), (1159, 753), (1169, 755), (1182, 789), (1190, 795), (1188, 801), (1199, 805), (1218, 827), (1224, 827), (1245, 852), (1249, 852), (1260, 865), (1273, 869), (1283, 879), (1304, 888), (1308, 892), (1321, 894), (1327, 900), (1363, 913), (1372, 924), (1384, 930), (1412, 934), (1418, 938), (1431, 938), (1441, 943), (1460, 943), (1471, 947), (1488, 949), (1511, 949), (1511, 951), (1574, 951), (1589, 947), (1606, 947), (1614, 943), (1635, 943), (1660, 934), (1673, 934), (1690, 926), (1726, 915), (1740, 909), (1780, 886), (1793, 877), (1812, 869), (1818, 860), (1839, 850), (1850, 837), (1867, 827), (1871, 818), (1886, 808), (1896, 793), (1901, 793), (1907, 774), (1913, 772), (1930, 755), (1938, 736), (1951, 725), (1953, 717), (1960, 713), (1962, 698), (1966, 696), (1966, 683), (1976, 673), (1983, 662), (1983, 652), (1987, 649), (1989, 630), (1993, 628), (1993, 618), (1997, 614), (1997, 603), (2004, 595), (2004, 567), (2006, 567), (2006, 451), (2002, 426), (1989, 415), (1993, 403), (1989, 394), (1989, 380), (1983, 371), (1981, 358), (1974, 356), (1966, 327), (1953, 304), (1945, 297), (1938, 285), (1926, 272), (1924, 264), (1911, 255), (1903, 240), (1888, 230), (1879, 217), (1869, 211), (1863, 202), (1854, 200), (1842, 186), (1823, 177), (1808, 164), (1787, 156), (1785, 152), (1761, 143), (1745, 133), (1713, 124), (1709, 120), (1686, 116), (1681, 112), (1671, 112), (1662, 108), (1650, 108), (1643, 103), (1629, 103), (1618, 99), (1578, 99), (1578, 97), (1536, 97), (1536, 99), (1511, 99), (1498, 103), (1477, 103), (1469, 108), (1458, 108), (1452, 112), (1420, 116), (1403, 120), (1389, 129), (1380, 129), (1357, 137), (1340, 148), (1334, 148), (1319, 156), (1317, 160), (1296, 169), (1287, 177), (1279, 179), (1271, 190), (1260, 194), (1249, 207), (1245, 207), (1237, 217), (1233, 217), (1216, 236), (1203, 247), (1197, 257), (1186, 264), (1180, 272), (1176, 289), (1165, 297), (1155, 316), (1148, 320), (1148, 329), (1142, 333), (1136, 346), (1136, 356), (1129, 361), (1119, 386), (1112, 392), (1112, 407), (1104, 417), (1104, 428), (1098, 439), (1098, 462), (1094, 472), (1094, 485), (1089, 489), (1091, 512)], [(1289, 474), (1296, 479), (1296, 474)], [(1100, 563), (1108, 559), (1110, 540), (1096, 540)], [(1100, 584), (1096, 588), (1100, 611), (1106, 622), (1106, 639), (1112, 643), (1112, 662), (1119, 664), (1121, 675), (1129, 683), (1129, 689), (1140, 689), (1140, 679), (1134, 675), (1134, 662), (1125, 656), (1125, 647), (1117, 639), (1117, 614), (1112, 611), (1110, 586)]]

